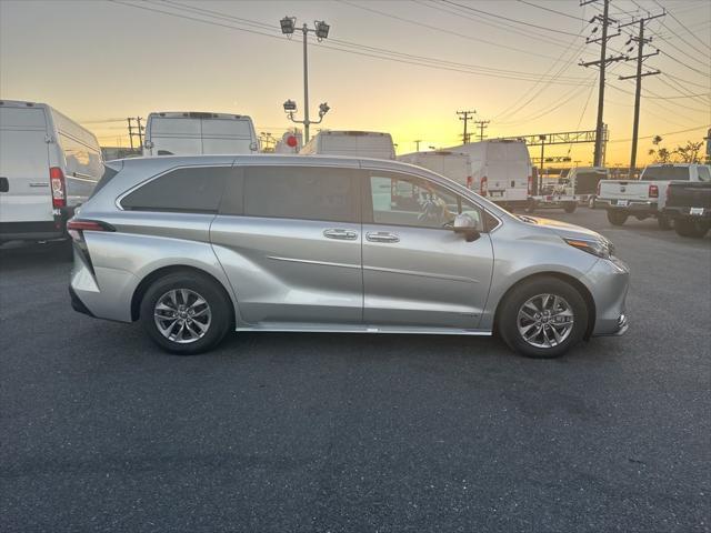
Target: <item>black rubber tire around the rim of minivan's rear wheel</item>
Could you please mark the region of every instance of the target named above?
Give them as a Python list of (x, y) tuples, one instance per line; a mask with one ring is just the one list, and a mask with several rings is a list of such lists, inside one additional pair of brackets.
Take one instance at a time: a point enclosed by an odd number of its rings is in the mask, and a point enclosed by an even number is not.
[[(170, 291), (180, 289), (186, 289), (202, 298), (207, 302), (211, 314), (207, 323), (207, 331), (202, 336), (186, 343), (164, 336), (153, 319), (154, 309), (159, 300)], [(139, 320), (151, 340), (163, 350), (178, 355), (192, 355), (211, 350), (222, 341), (233, 323), (232, 304), (222, 286), (206, 274), (194, 271), (173, 272), (156, 280), (148, 288), (141, 300)], [(194, 324), (194, 322), (192, 323)], [(201, 323), (201, 325), (204, 324)], [(196, 325), (192, 328), (197, 331)], [(176, 332), (174, 329), (172, 331)]]

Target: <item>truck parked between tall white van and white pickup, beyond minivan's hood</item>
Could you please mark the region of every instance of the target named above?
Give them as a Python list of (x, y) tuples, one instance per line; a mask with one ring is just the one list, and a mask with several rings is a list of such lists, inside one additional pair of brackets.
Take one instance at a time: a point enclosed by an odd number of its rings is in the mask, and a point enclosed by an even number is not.
[(600, 181), (609, 178), (608, 169), (603, 167), (575, 167), (570, 169), (559, 183), (550, 191), (529, 198), (527, 211), (535, 209), (562, 208), (567, 213), (575, 211), (578, 205), (595, 208), (597, 191)]

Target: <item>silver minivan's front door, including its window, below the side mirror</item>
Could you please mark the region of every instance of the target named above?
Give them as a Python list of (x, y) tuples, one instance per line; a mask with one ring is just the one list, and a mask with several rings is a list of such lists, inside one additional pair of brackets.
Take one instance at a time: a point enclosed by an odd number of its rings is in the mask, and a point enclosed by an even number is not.
[(491, 241), (481, 233), (468, 242), (451, 222), (464, 212), (481, 223), (481, 209), (408, 174), (370, 172), (365, 181), (365, 324), (477, 329), (491, 282)]

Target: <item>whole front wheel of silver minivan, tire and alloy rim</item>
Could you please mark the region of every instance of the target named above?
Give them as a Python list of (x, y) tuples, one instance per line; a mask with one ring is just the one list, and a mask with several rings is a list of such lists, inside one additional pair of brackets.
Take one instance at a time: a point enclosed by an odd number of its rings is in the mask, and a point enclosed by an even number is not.
[(515, 286), (501, 304), (498, 329), (504, 342), (528, 358), (563, 355), (588, 329), (580, 292), (558, 278), (537, 278)]

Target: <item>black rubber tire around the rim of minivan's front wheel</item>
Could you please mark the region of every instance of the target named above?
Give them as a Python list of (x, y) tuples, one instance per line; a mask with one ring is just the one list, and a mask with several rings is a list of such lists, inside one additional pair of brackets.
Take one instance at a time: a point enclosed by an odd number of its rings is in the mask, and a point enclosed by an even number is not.
[[(572, 331), (558, 345), (550, 348), (534, 346), (527, 342), (519, 332), (519, 311), (525, 302), (539, 294), (562, 298), (572, 310)], [(507, 294), (497, 313), (498, 331), (503, 341), (517, 353), (534, 359), (552, 359), (563, 355), (571, 346), (583, 339), (588, 329), (588, 305), (580, 292), (570, 283), (553, 276), (533, 278), (518, 284)]]

